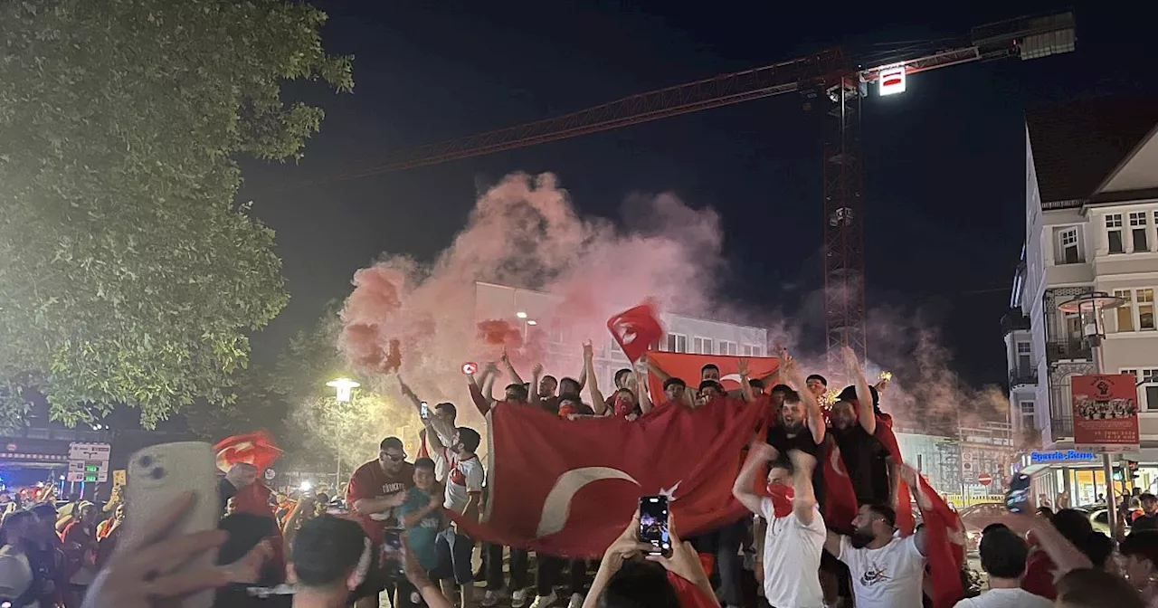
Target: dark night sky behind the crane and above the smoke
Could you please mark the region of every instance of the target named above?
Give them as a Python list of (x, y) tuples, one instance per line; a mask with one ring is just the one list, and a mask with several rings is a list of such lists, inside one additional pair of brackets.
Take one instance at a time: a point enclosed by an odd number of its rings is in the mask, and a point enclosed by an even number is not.
[[(724, 295), (791, 312), (822, 284), (822, 124), (801, 110), (797, 94), (403, 173), (327, 178), (391, 151), (830, 46), (879, 51), (874, 45), (967, 35), (974, 25), (1068, 8), (313, 3), (330, 15), (325, 47), (356, 56), (356, 87), (351, 95), (287, 87), (287, 98), (327, 110), (322, 132), (296, 166), (244, 163), (242, 196), (255, 199), (256, 214), (277, 230), (292, 294), (254, 338), (257, 358), (313, 323), (329, 300), (344, 298), (353, 271), (381, 251), (431, 259), (466, 224), (478, 188), (514, 170), (556, 173), (582, 214), (614, 218), (624, 197), (639, 191), (672, 191), (692, 206), (716, 207), (731, 269)], [(1023, 112), (1155, 90), (1143, 80), (1152, 72), (1143, 61), (1151, 35), (1145, 20), (1114, 12), (1111, 2), (1075, 10), (1075, 53), (918, 74), (904, 95), (865, 103), (868, 307), (928, 312), (970, 383), (1005, 378), (998, 320), (1025, 230)]]

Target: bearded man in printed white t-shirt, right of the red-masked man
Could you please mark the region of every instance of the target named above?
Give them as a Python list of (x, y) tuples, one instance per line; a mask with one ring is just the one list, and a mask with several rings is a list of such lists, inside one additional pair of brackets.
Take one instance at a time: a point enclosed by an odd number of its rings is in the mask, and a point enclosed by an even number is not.
[(851, 536), (828, 532), (824, 549), (852, 576), (857, 608), (921, 608), (925, 576), (925, 530), (896, 536), (896, 512), (862, 505)]

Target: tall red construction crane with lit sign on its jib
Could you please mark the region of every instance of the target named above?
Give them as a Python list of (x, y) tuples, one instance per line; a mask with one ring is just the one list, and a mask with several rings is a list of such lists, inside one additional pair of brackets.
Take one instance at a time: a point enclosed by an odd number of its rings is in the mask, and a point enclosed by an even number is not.
[[(909, 45), (858, 61), (840, 49), (827, 50), (632, 95), (555, 118), (401, 151), (334, 178), (356, 180), (438, 164), (799, 93), (807, 105), (819, 102), (831, 116), (827, 120), (823, 155), (826, 347), (830, 380), (836, 381), (835, 386), (844, 386), (842, 347), (851, 346), (862, 360), (866, 354), (862, 101), (873, 87), (879, 95), (903, 93), (909, 75), (930, 69), (1004, 58), (1036, 59), (1072, 51), (1073, 28), (1073, 14), (1060, 13), (981, 25), (966, 37), (938, 45)], [(866, 64), (874, 67), (862, 67)]]

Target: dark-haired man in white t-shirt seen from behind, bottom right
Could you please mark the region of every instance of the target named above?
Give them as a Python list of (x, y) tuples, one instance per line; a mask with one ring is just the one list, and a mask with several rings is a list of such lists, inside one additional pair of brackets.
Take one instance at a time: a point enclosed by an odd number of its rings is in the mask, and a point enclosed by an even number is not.
[(1021, 588), (1029, 547), (1001, 523), (981, 533), (981, 567), (989, 574), (989, 591), (967, 598), (953, 608), (1049, 608), (1054, 602)]

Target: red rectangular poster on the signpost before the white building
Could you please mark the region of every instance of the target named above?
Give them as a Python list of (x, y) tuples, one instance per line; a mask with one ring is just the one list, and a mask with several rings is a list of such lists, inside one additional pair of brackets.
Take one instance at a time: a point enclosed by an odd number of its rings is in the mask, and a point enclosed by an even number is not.
[(1138, 449), (1138, 389), (1133, 374), (1076, 375), (1073, 444), (1078, 449)]

